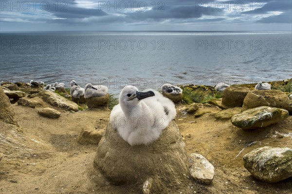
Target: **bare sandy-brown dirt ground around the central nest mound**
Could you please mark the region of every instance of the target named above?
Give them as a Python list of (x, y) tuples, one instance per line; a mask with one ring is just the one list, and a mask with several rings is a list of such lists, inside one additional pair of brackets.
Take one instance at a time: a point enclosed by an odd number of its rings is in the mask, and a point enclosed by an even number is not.
[[(292, 148), (292, 116), (263, 129), (242, 130), (230, 120), (216, 120), (220, 109), (205, 104), (197, 112), (201, 117), (183, 113), (177, 105), (176, 122), (183, 135), (187, 153), (199, 153), (215, 167), (211, 185), (193, 182), (176, 194), (292, 194), (292, 178), (267, 184), (251, 177), (242, 157), (261, 146)], [(64, 112), (58, 119), (37, 114), (37, 109), (13, 105), (18, 118), (19, 147), (1, 142), (1, 194), (129, 194), (135, 188), (111, 185), (93, 168), (97, 145), (80, 145), (76, 138), (87, 126), (104, 129), (110, 110)], [(16, 131), (1, 124), (1, 133)], [(8, 136), (8, 135), (7, 135)], [(12, 140), (11, 140), (12, 141)], [(33, 142), (34, 144), (32, 144)]]

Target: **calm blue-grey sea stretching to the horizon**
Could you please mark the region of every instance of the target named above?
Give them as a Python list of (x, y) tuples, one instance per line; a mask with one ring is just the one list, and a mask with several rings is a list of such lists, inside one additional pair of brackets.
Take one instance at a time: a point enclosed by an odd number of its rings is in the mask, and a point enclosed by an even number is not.
[(1, 32), (0, 81), (159, 88), (292, 77), (292, 32)]

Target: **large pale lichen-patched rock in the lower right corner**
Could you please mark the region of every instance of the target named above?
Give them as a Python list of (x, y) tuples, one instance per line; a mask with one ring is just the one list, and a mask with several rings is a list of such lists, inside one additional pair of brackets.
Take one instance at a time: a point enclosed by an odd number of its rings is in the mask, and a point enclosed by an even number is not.
[(259, 147), (243, 156), (244, 167), (253, 177), (274, 183), (292, 177), (292, 149)]

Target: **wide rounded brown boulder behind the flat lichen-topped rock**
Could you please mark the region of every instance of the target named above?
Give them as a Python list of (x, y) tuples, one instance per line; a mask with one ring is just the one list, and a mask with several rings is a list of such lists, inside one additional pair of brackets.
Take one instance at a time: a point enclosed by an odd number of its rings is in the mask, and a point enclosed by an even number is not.
[(289, 97), (280, 90), (253, 90), (247, 94), (243, 101), (242, 110), (270, 106), (290, 110)]

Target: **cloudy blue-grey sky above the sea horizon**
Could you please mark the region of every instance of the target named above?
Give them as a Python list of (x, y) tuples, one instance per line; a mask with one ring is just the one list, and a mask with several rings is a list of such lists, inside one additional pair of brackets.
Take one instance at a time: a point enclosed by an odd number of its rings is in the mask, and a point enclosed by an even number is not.
[(292, 31), (292, 0), (0, 0), (0, 31)]

